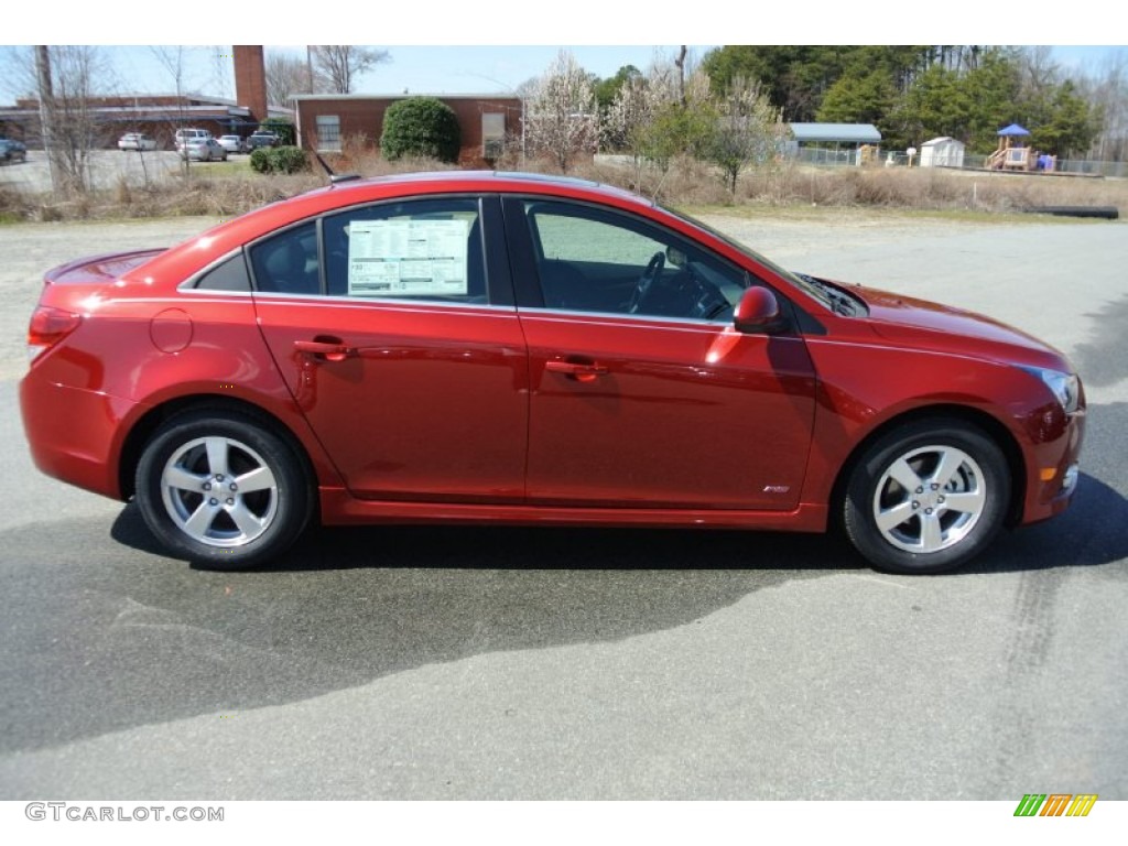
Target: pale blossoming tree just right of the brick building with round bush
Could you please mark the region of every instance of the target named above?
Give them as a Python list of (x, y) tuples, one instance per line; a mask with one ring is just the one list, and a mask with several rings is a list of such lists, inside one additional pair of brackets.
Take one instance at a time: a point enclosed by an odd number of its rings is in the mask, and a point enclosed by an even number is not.
[(550, 156), (561, 171), (599, 142), (599, 109), (591, 77), (566, 50), (534, 88), (526, 114), (526, 142)]

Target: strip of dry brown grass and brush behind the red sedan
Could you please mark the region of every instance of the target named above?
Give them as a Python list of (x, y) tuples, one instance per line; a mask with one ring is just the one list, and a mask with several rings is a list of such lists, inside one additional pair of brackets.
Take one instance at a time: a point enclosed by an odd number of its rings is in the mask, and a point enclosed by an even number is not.
[[(448, 169), (449, 165), (428, 159), (388, 162), (359, 146), (345, 144), (343, 153), (328, 157), (338, 173), (384, 176), (413, 170)], [(16, 167), (35, 167), (34, 162)], [(45, 165), (41, 165), (45, 168)], [(554, 173), (548, 162), (514, 159), (499, 169)], [(682, 158), (666, 173), (617, 164), (585, 162), (570, 176), (609, 183), (637, 191), (679, 208), (731, 210), (794, 210), (831, 208), (874, 209), (944, 214), (1023, 213), (1034, 206), (1117, 206), (1128, 210), (1128, 180), (1056, 174), (1005, 174), (987, 170), (940, 168), (813, 167), (777, 162), (749, 168), (735, 194), (722, 184), (710, 166)], [(320, 168), (292, 176), (264, 176), (250, 170), (246, 157), (213, 165), (197, 165), (185, 177), (171, 171), (160, 179), (138, 185), (122, 177), (112, 187), (91, 191), (70, 201), (0, 180), (0, 223), (18, 221), (165, 218), (175, 215), (240, 214), (263, 203), (291, 196), (327, 183)]]

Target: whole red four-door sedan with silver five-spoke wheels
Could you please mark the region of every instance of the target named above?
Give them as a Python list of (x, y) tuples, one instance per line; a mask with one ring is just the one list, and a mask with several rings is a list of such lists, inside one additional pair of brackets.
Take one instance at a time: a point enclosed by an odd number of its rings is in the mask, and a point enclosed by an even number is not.
[(840, 525), (938, 572), (1068, 505), (1085, 415), (1016, 329), (526, 175), (338, 183), (56, 267), (28, 343), (38, 467), (214, 567), (316, 515)]

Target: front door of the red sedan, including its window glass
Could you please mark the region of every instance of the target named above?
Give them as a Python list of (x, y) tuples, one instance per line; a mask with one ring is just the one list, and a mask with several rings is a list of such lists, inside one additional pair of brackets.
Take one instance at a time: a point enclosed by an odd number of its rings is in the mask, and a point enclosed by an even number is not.
[(539, 200), (514, 213), (544, 291), (520, 312), (530, 504), (794, 509), (813, 367), (797, 334), (732, 328), (752, 280), (633, 215)]

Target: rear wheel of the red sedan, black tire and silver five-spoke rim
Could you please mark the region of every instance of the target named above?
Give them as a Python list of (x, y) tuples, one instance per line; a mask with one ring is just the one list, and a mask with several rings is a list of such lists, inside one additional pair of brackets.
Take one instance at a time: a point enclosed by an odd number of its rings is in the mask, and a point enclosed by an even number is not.
[(314, 502), (285, 441), (252, 417), (214, 409), (177, 415), (157, 431), (138, 462), (135, 491), (161, 545), (212, 570), (281, 555)]

